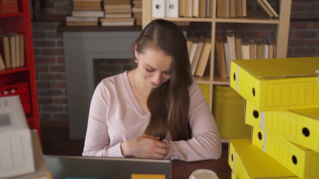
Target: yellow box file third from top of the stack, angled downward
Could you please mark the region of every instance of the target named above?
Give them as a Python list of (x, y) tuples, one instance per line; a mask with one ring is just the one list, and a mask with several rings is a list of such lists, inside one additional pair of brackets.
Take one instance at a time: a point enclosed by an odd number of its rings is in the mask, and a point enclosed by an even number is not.
[(253, 144), (301, 179), (319, 179), (319, 153), (253, 128)]

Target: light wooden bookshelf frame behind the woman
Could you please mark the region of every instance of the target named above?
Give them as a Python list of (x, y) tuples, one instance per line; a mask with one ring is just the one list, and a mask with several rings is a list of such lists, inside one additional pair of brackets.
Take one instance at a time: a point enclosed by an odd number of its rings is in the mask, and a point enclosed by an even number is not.
[[(143, 16), (142, 28), (148, 23), (157, 18), (162, 18), (171, 21), (188, 21), (188, 22), (211, 22), (211, 54), (209, 73), (205, 72), (204, 77), (195, 77), (198, 84), (209, 85), (209, 108), (213, 106), (213, 87), (215, 85), (229, 86), (229, 78), (220, 78), (214, 75), (215, 62), (215, 34), (218, 23), (258, 23), (258, 24), (275, 24), (274, 39), (277, 42), (277, 58), (286, 58), (288, 49), (289, 24), (292, 0), (278, 0), (279, 2), (279, 18), (270, 18), (264, 15), (264, 11), (255, 11), (253, 14), (247, 14), (246, 17), (230, 18), (217, 17), (217, 0), (212, 0), (212, 17), (197, 18), (197, 17), (152, 17), (152, 0), (143, 0)], [(233, 29), (236, 30), (236, 29)]]

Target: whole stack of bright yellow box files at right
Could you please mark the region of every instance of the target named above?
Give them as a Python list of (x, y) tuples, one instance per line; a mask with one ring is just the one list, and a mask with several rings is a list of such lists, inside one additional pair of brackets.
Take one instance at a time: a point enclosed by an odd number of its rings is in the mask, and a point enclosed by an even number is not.
[(319, 179), (319, 57), (233, 60), (230, 87), (253, 127), (230, 139), (233, 176)]

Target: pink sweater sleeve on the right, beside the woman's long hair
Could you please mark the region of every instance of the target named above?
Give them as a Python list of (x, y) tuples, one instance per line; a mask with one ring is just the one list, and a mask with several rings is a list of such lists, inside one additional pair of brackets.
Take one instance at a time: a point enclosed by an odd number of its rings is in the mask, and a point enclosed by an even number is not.
[(189, 89), (189, 124), (193, 137), (187, 141), (167, 141), (169, 152), (165, 159), (199, 161), (219, 159), (221, 139), (205, 97), (195, 80)]

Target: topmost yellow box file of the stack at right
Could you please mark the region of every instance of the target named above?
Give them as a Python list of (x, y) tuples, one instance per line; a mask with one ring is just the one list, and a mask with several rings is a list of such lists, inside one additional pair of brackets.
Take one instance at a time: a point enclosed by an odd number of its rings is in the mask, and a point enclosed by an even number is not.
[(230, 86), (261, 111), (319, 107), (319, 57), (232, 60)]

